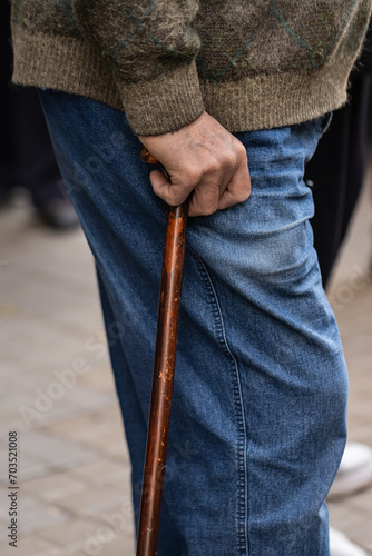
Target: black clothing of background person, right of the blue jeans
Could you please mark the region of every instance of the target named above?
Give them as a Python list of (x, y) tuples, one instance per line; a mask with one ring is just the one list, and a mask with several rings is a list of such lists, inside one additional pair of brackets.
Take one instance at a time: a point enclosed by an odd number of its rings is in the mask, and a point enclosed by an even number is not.
[(313, 182), (314, 245), (325, 287), (362, 189), (372, 146), (372, 26), (354, 69), (349, 103), (333, 113), (306, 165)]

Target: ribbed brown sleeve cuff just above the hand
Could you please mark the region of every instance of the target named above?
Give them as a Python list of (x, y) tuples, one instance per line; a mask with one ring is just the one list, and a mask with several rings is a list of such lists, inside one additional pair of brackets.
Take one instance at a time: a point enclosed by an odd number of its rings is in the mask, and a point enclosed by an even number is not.
[(158, 136), (187, 126), (204, 111), (196, 63), (149, 82), (116, 82), (123, 108), (138, 136)]

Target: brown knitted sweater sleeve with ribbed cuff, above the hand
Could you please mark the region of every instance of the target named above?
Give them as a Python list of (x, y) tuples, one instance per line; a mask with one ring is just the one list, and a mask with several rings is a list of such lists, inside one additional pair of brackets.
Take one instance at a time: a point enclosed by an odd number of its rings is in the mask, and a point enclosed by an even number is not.
[(72, 0), (72, 10), (111, 68), (135, 133), (175, 131), (203, 112), (198, 0)]

